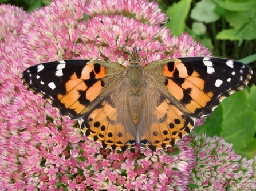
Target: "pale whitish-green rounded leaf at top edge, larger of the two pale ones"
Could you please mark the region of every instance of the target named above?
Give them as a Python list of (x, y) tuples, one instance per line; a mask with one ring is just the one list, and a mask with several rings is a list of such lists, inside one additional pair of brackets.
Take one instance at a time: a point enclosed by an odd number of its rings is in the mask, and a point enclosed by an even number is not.
[(219, 19), (219, 15), (215, 13), (216, 5), (211, 0), (202, 0), (196, 3), (191, 10), (190, 17), (195, 21), (211, 23)]

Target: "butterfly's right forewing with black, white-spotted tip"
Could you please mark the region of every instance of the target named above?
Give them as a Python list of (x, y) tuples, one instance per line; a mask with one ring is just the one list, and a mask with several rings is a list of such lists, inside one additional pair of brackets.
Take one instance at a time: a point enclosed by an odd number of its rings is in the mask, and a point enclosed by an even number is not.
[(159, 60), (146, 74), (188, 116), (210, 114), (227, 96), (242, 90), (252, 71), (237, 60), (194, 57)]

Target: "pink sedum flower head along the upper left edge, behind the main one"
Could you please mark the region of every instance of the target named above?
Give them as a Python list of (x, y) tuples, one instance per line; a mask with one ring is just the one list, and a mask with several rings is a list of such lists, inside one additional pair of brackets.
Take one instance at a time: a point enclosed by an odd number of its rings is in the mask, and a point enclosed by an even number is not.
[[(0, 4), (0, 104), (9, 104), (15, 97), (20, 74), (22, 9)], [(13, 81), (16, 81), (14, 83)], [(19, 83), (20, 84), (20, 83)]]

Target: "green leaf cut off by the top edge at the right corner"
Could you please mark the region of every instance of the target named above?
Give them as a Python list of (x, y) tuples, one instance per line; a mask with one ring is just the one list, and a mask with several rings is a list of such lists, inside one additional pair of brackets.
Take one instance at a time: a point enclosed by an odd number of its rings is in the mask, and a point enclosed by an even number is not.
[(231, 2), (231, 1), (222, 1), (222, 0), (212, 0), (218, 6), (222, 7), (223, 9), (230, 10), (230, 11), (247, 11), (249, 9), (256, 8), (256, 1), (244, 1), (241, 2)]

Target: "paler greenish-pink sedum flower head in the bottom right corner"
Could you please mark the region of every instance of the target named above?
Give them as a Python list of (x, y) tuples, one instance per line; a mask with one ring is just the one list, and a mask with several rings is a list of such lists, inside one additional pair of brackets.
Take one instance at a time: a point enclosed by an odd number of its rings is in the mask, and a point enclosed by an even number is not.
[(256, 156), (247, 160), (235, 154), (232, 144), (220, 137), (192, 137), (196, 164), (191, 173), (192, 190), (255, 190)]

